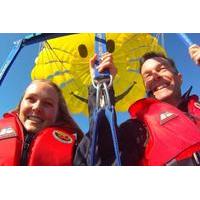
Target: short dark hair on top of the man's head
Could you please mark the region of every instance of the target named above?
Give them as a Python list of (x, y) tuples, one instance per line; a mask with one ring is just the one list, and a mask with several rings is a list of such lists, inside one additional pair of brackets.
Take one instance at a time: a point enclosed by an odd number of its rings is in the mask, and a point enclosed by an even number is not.
[(179, 73), (179, 72), (178, 72), (178, 69), (177, 69), (177, 67), (176, 67), (176, 65), (175, 65), (175, 63), (174, 63), (174, 61), (173, 61), (171, 58), (166, 57), (166, 56), (165, 56), (163, 53), (161, 53), (161, 52), (154, 52), (154, 51), (145, 53), (145, 54), (140, 58), (140, 60), (139, 60), (139, 62), (140, 62), (140, 73), (141, 73), (141, 71), (142, 71), (142, 66), (143, 66), (143, 64), (144, 64), (147, 60), (149, 60), (149, 59), (151, 59), (151, 58), (156, 58), (156, 57), (164, 58), (164, 59), (170, 64), (170, 66), (174, 69), (175, 73)]

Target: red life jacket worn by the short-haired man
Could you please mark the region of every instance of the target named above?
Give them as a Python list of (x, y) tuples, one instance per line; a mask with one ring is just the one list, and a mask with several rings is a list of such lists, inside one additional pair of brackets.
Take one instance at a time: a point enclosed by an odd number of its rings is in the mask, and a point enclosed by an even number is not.
[(183, 160), (200, 151), (200, 104), (197, 96), (191, 96), (189, 119), (176, 107), (146, 98), (129, 108), (132, 118), (138, 118), (146, 125), (148, 141), (141, 165), (167, 165), (172, 160)]

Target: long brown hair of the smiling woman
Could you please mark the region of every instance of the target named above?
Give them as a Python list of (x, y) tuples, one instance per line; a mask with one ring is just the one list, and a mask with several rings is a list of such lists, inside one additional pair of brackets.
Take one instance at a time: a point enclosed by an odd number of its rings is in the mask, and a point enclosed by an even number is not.
[[(58, 99), (59, 99), (59, 101), (58, 101), (59, 108), (58, 108), (58, 116), (57, 116), (57, 119), (56, 119), (56, 122), (54, 125), (61, 126), (63, 128), (66, 128), (66, 129), (76, 132), (77, 140), (78, 140), (78, 142), (80, 142), (80, 140), (83, 137), (83, 132), (79, 128), (78, 124), (72, 118), (72, 116), (67, 108), (65, 99), (62, 95), (61, 89), (55, 83), (51, 82), (50, 80), (46, 80), (46, 79), (33, 80), (29, 85), (31, 85), (34, 82), (47, 83), (48, 85), (52, 86), (56, 90), (56, 92), (58, 94)], [(26, 93), (26, 91), (25, 91), (25, 93)], [(24, 93), (24, 95), (25, 95), (25, 93)], [(20, 111), (20, 106), (21, 106), (21, 102), (22, 102), (24, 95), (22, 96), (17, 108), (14, 110), (17, 113), (19, 113), (19, 111)]]

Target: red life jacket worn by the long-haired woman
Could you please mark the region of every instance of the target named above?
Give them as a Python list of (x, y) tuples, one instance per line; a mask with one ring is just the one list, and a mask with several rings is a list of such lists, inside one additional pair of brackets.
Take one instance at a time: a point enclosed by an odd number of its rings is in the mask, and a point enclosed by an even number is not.
[[(27, 165), (72, 165), (76, 138), (71, 131), (49, 127), (37, 133), (28, 149)], [(7, 113), (0, 120), (0, 165), (20, 165), (24, 133), (18, 117)]]

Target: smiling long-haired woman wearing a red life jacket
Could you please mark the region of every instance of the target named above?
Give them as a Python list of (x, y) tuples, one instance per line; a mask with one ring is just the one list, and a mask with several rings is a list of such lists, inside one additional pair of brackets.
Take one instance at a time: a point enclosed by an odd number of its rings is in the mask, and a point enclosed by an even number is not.
[(61, 90), (34, 80), (18, 107), (0, 120), (0, 165), (72, 165), (82, 136)]

